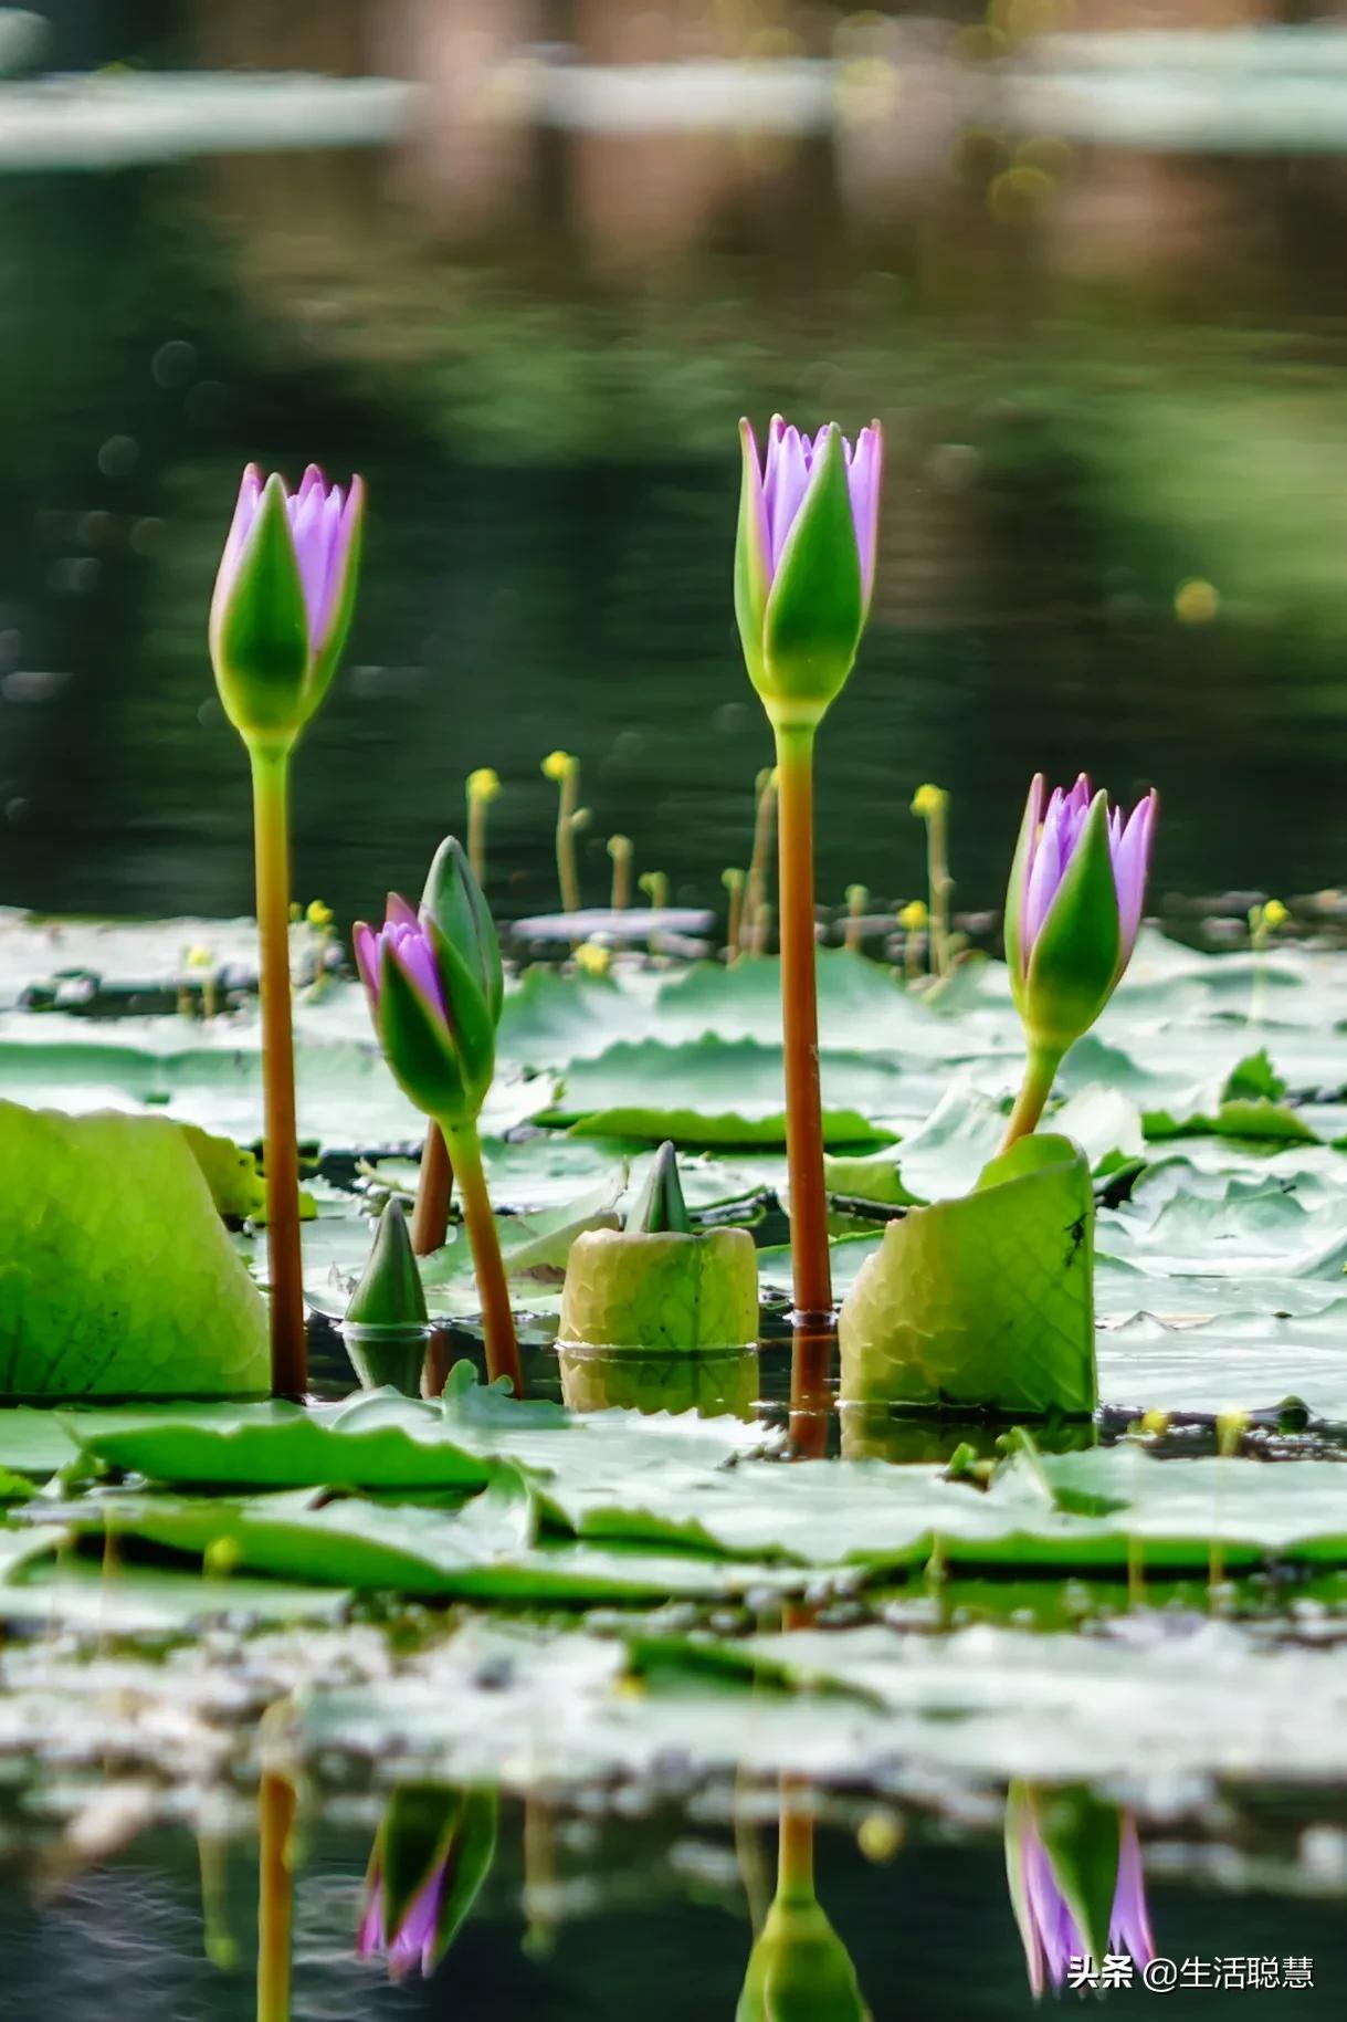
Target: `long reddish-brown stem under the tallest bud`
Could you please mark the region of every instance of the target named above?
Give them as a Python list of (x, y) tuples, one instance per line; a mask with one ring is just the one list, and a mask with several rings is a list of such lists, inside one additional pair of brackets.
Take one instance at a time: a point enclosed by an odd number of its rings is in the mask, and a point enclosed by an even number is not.
[(797, 1318), (831, 1312), (813, 930), (813, 728), (777, 728), (781, 1021)]

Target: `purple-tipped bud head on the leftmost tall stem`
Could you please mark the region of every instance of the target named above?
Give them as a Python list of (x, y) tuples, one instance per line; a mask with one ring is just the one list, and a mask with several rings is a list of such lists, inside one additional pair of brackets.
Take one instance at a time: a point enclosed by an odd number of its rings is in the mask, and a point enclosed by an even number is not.
[(328, 694), (356, 605), (364, 481), (297, 491), (243, 473), (210, 601), (210, 661), (235, 730), (289, 744)]

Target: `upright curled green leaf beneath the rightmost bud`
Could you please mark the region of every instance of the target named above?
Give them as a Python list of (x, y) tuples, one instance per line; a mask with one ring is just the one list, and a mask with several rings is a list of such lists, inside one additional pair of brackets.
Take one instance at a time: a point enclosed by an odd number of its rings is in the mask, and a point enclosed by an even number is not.
[(1084, 1153), (1027, 1136), (973, 1193), (892, 1221), (837, 1320), (841, 1397), (1088, 1417), (1094, 1197)]

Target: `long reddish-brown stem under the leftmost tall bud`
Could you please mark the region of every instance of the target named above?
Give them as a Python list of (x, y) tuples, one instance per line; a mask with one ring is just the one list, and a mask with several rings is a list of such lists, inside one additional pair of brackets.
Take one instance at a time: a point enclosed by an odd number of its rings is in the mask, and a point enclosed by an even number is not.
[(299, 1256), (299, 1136), (295, 1037), (289, 1009), (289, 750), (249, 750), (257, 857), (257, 938), (271, 1280), (271, 1393), (303, 1397), (303, 1264)]

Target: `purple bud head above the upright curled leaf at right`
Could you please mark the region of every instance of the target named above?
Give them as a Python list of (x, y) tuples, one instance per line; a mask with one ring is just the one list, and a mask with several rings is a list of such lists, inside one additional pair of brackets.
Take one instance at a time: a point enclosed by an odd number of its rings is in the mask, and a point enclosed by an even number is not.
[(1031, 1047), (1060, 1058), (1112, 997), (1137, 944), (1157, 811), (1147, 793), (1125, 821), (1084, 772), (1044, 807), (1036, 774), (1005, 898), (1005, 958)]

